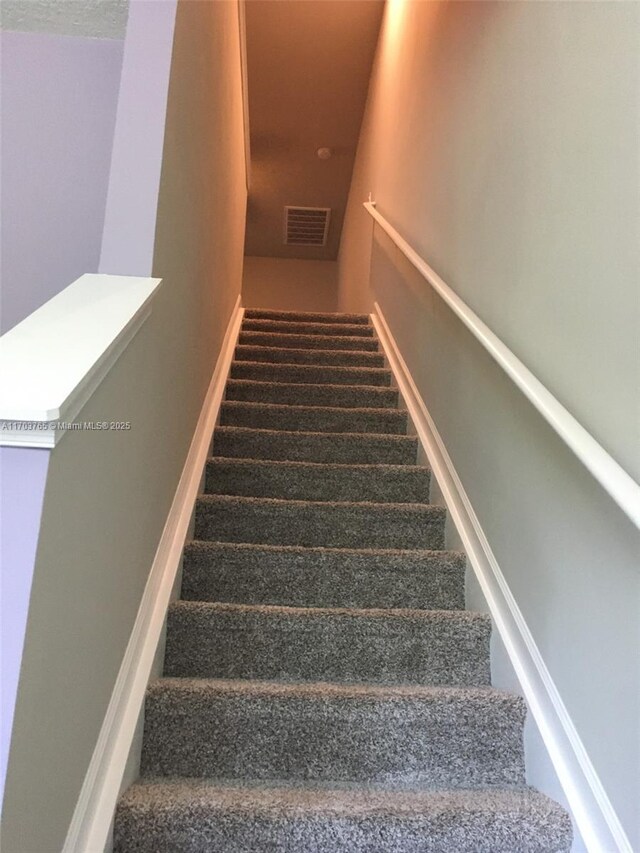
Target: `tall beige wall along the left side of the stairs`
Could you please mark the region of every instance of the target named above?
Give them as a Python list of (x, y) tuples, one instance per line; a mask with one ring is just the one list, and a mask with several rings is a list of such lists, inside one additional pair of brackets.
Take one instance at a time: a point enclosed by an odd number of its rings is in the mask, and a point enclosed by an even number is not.
[(180, 2), (153, 312), (52, 454), (3, 813), (4, 853), (60, 850), (241, 284), (235, 3)]

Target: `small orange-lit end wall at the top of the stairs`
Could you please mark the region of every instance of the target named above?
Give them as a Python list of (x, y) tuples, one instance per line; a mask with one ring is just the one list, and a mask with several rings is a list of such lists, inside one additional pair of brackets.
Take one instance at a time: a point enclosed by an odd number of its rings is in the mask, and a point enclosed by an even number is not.
[(335, 261), (245, 257), (242, 304), (284, 311), (337, 311), (338, 265)]

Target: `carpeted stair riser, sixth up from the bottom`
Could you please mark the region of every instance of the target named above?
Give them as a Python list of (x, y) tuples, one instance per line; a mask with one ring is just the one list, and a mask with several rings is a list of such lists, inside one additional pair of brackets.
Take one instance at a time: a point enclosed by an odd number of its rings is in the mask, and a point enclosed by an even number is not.
[(211, 459), (205, 492), (306, 501), (429, 503), (429, 470)]

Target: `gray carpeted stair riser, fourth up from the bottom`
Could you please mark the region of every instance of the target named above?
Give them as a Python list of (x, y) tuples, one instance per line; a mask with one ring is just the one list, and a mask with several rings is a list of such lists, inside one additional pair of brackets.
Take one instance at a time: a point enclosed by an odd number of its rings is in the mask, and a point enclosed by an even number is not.
[(464, 608), (464, 558), (193, 542), (182, 598), (291, 607)]

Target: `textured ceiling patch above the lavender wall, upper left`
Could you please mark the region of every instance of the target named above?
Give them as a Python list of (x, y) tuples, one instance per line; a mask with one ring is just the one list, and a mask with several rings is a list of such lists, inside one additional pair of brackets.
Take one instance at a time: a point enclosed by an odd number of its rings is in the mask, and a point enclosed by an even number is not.
[(1, 0), (3, 30), (124, 38), (129, 0)]

